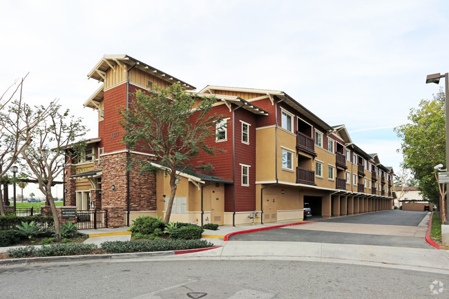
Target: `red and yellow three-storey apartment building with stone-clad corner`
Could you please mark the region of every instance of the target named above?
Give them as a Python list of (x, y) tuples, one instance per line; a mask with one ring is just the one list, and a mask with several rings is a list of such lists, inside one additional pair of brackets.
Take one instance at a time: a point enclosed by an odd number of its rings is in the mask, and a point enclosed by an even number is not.
[[(155, 166), (152, 153), (128, 151), (118, 107), (137, 89), (178, 82), (193, 96), (215, 95), (224, 115), (207, 143), (223, 153), (199, 155), (179, 173), (171, 220), (240, 225), (303, 220), (303, 204), (329, 218), (392, 209), (393, 170), (352, 142), (344, 125), (330, 126), (280, 90), (206, 86), (200, 91), (128, 55), (105, 55), (88, 77), (102, 82), (84, 103), (98, 110), (99, 136), (64, 175), (66, 204), (108, 211), (108, 226), (139, 215), (164, 216), (169, 183), (162, 173), (126, 171), (132, 155)], [(70, 148), (68, 148), (70, 151)], [(70, 155), (68, 155), (70, 157)], [(204, 173), (203, 162), (214, 166)], [(160, 166), (162, 167), (162, 166)]]

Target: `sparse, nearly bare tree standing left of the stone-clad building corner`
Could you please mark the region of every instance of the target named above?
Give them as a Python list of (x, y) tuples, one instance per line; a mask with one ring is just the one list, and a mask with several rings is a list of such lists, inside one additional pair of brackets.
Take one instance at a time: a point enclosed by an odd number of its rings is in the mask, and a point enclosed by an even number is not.
[(61, 240), (61, 228), (51, 186), (66, 166), (64, 149), (71, 145), (72, 158), (76, 159), (85, 147), (85, 142), (77, 142), (77, 139), (86, 132), (81, 118), (75, 118), (69, 114), (69, 110), (62, 110), (60, 105), (56, 105), (50, 109), (48, 119), (35, 129), (35, 139), (31, 146), (21, 153), (31, 169), (28, 175), (37, 180), (39, 190), (50, 203), (58, 242)]

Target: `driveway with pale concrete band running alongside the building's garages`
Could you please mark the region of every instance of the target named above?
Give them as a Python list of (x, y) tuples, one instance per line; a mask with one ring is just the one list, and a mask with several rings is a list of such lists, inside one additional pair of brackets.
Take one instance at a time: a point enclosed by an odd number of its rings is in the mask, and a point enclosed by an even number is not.
[(427, 221), (423, 219), (426, 215), (428, 213), (414, 211), (381, 211), (233, 235), (229, 240), (318, 242), (432, 249), (433, 247), (424, 240)]

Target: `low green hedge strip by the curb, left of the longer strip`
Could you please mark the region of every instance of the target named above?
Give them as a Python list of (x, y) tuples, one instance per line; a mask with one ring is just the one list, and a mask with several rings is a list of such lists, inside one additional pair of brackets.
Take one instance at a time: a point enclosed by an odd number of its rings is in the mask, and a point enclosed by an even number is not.
[(97, 249), (95, 244), (70, 243), (44, 245), (41, 248), (33, 246), (21, 247), (8, 250), (11, 258), (28, 258), (30, 256), (61, 256), (61, 255), (83, 255), (92, 253)]

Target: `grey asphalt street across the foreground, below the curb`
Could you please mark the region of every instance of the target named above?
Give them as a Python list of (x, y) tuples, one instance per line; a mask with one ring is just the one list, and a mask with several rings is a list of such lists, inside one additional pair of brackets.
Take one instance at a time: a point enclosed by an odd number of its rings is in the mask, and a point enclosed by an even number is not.
[[(187, 299), (198, 298), (198, 293), (206, 293), (204, 299), (449, 296), (448, 275), (294, 260), (30, 264), (0, 267), (0, 281), (1, 298)], [(432, 295), (432, 284), (441, 293)]]

